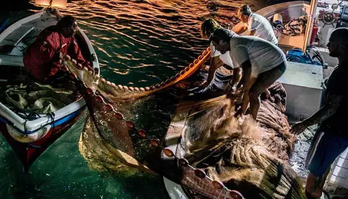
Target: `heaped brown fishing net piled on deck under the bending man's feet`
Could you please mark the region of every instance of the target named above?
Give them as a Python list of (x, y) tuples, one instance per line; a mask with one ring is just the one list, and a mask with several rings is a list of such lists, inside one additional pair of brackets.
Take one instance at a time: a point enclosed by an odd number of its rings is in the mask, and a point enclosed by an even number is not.
[(296, 138), (284, 115), (286, 93), (280, 83), (269, 91), (270, 98), (262, 96), (258, 124), (234, 117), (238, 99), (219, 97), (180, 103), (168, 133), (182, 132), (177, 155), (245, 198), (301, 199), (302, 182), (287, 163)]

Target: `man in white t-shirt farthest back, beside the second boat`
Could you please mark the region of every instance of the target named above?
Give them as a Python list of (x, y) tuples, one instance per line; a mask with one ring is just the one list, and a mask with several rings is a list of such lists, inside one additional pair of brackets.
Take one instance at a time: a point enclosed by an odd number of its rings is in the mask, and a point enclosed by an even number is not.
[(245, 24), (239, 30), (233, 29), (237, 34), (241, 34), (248, 30), (248, 35), (260, 37), (274, 45), (278, 45), (278, 39), (275, 37), (272, 25), (264, 16), (252, 12), (249, 5), (241, 5), (237, 15)]

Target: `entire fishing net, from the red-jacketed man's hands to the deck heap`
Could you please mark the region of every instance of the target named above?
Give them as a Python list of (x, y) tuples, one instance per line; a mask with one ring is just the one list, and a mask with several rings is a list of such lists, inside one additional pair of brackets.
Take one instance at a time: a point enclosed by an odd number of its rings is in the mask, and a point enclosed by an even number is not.
[[(193, 198), (240, 198), (231, 190), (246, 198), (304, 198), (301, 181), (286, 162), (296, 139), (289, 133), (280, 83), (269, 88), (269, 99), (262, 97), (255, 123), (234, 117), (241, 90), (187, 101), (186, 82), (124, 100), (110, 83), (87, 74), (77, 84), (90, 113), (79, 148), (90, 167), (156, 172)], [(95, 93), (88, 81), (96, 85)]]

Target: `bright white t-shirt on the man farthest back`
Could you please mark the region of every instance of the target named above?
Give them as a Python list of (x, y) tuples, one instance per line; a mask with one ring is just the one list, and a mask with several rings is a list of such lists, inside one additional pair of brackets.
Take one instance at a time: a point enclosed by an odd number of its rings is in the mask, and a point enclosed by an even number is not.
[(249, 15), (246, 26), (249, 31), (255, 30), (254, 36), (269, 41), (274, 45), (278, 44), (278, 39), (275, 37), (273, 27), (264, 16), (252, 12)]

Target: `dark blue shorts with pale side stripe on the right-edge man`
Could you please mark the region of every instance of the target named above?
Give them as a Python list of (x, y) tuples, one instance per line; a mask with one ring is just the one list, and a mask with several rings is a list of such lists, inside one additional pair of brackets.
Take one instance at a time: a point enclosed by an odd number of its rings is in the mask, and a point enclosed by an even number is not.
[(315, 176), (323, 176), (335, 159), (348, 147), (348, 135), (318, 130), (306, 159), (306, 169)]

